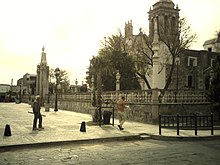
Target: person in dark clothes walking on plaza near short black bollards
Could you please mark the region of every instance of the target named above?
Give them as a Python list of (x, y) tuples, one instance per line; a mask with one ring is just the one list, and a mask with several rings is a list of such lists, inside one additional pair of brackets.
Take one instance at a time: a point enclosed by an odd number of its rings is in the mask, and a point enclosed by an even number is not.
[(40, 96), (37, 95), (33, 103), (33, 113), (34, 113), (33, 131), (37, 130), (37, 119), (39, 119), (39, 124), (38, 124), (39, 130), (44, 129), (42, 127), (42, 115), (40, 113), (40, 109), (41, 109)]

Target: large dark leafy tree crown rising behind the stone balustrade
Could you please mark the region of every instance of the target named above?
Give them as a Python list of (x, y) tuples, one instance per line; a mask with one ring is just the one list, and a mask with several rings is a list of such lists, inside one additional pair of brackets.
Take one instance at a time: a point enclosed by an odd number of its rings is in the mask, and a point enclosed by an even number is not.
[[(119, 44), (117, 44), (118, 41), (121, 41), (119, 36), (110, 37), (107, 41), (107, 45), (100, 49), (99, 55), (90, 60), (90, 67), (87, 72), (89, 75), (87, 76), (87, 80), (91, 79), (92, 74), (98, 73), (98, 71), (101, 70), (102, 90), (115, 90), (115, 75), (117, 70), (119, 70), (121, 75), (121, 90), (140, 89), (134, 62), (131, 56), (122, 52)], [(102, 60), (102, 64), (99, 64), (101, 66), (95, 64), (97, 58)], [(90, 81), (87, 82), (91, 83)]]

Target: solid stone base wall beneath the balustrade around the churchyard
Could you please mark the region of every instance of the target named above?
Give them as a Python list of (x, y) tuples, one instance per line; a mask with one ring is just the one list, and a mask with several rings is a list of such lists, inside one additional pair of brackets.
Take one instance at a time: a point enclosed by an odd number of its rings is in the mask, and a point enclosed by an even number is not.
[[(23, 99), (22, 102), (28, 103), (28, 99)], [(94, 107), (89, 100), (71, 100), (71, 99), (58, 99), (58, 109), (93, 114)], [(50, 108), (54, 108), (54, 97), (50, 99)], [(152, 123), (152, 104), (151, 103), (129, 103), (130, 109), (127, 110), (127, 120), (137, 121), (143, 123)], [(161, 115), (188, 115), (188, 114), (210, 114), (210, 105), (208, 103), (171, 103), (171, 104), (158, 104), (158, 112), (156, 114)], [(104, 109), (105, 110), (105, 109)], [(103, 110), (103, 111), (104, 111)], [(117, 118), (117, 111), (115, 111), (115, 117)], [(92, 120), (92, 118), (91, 118)], [(157, 119), (154, 122), (157, 122)]]

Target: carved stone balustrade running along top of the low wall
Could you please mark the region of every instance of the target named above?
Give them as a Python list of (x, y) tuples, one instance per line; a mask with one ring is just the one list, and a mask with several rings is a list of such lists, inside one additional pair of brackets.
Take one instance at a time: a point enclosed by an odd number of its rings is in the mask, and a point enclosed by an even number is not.
[[(126, 102), (129, 104), (151, 104), (152, 103), (152, 90), (129, 90), (129, 91), (108, 91), (102, 92), (104, 100), (111, 99), (115, 102), (117, 96), (124, 95)], [(23, 96), (24, 100), (28, 100), (28, 96)], [(54, 100), (55, 95), (50, 96), (50, 100)], [(161, 104), (198, 104), (209, 103), (205, 91), (201, 90), (159, 90), (158, 93), (159, 103)], [(79, 92), (72, 94), (58, 94), (58, 100), (69, 100), (75, 102), (92, 102), (91, 92)]]

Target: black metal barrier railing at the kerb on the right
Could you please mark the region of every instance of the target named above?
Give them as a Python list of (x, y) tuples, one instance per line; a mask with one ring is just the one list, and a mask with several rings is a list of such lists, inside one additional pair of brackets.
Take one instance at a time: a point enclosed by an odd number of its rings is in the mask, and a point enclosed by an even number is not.
[(176, 128), (177, 135), (180, 129), (194, 129), (197, 135), (198, 128), (213, 129), (213, 114), (211, 115), (159, 115), (159, 134), (162, 128)]

